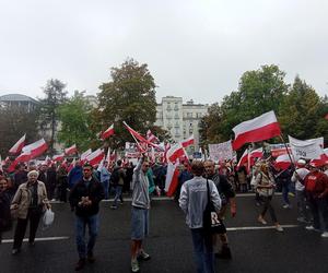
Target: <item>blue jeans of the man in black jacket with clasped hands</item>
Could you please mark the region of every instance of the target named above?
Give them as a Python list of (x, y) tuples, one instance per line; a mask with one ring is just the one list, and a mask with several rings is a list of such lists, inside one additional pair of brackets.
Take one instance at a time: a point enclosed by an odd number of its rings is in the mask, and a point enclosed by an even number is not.
[[(87, 246), (85, 245), (85, 226), (89, 227), (89, 241)], [(92, 253), (93, 247), (96, 241), (99, 229), (99, 219), (98, 214), (80, 217), (77, 216), (75, 221), (75, 234), (77, 234), (77, 246), (80, 259), (84, 259), (86, 253)]]

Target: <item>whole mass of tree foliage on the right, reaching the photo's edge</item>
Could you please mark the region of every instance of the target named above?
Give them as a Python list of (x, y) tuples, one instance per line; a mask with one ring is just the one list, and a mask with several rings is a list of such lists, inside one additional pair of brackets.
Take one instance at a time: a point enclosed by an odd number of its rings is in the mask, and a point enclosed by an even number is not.
[(320, 98), (298, 76), (290, 86), (284, 76), (277, 66), (245, 72), (238, 91), (225, 96), (221, 105), (213, 104), (201, 120), (201, 145), (233, 139), (233, 127), (269, 110), (274, 110), (285, 136), (301, 140), (324, 136), (327, 145), (328, 121), (324, 117), (328, 112), (328, 97)]

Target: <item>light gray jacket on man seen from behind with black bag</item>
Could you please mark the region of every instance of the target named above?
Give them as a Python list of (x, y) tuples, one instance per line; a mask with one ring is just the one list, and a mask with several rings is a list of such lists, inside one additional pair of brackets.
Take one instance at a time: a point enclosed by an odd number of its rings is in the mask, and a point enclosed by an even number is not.
[[(210, 197), (219, 211), (221, 199), (212, 180), (209, 180)], [(186, 213), (186, 223), (189, 228), (202, 227), (202, 215), (208, 203), (207, 179), (196, 176), (186, 181), (181, 187), (179, 206)]]

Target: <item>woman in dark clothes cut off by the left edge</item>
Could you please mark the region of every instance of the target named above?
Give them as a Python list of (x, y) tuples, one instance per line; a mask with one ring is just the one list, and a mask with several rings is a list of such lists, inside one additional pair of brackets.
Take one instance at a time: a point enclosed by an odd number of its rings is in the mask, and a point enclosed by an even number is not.
[(8, 179), (0, 177), (0, 244), (2, 233), (11, 228), (10, 202), (11, 193), (8, 188)]

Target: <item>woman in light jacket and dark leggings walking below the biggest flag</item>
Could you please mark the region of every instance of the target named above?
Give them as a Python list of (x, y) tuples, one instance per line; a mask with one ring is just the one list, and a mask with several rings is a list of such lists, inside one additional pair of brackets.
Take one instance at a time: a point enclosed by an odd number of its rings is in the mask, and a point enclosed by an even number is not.
[(270, 216), (272, 218), (272, 222), (276, 225), (276, 229), (278, 232), (283, 232), (282, 227), (278, 223), (274, 209), (272, 207), (271, 200), (274, 193), (276, 182), (274, 178), (269, 171), (268, 165), (266, 163), (262, 163), (260, 165), (259, 173), (257, 174), (254, 187), (258, 194), (261, 197), (261, 200), (263, 201), (263, 209), (260, 215), (258, 216), (258, 222), (266, 225), (267, 222), (265, 219), (266, 213), (269, 210)]

